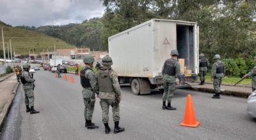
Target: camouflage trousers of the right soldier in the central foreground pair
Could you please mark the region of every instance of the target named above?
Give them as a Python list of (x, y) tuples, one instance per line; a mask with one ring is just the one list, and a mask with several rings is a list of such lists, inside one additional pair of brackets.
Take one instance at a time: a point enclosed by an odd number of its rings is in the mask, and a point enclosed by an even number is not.
[(120, 120), (119, 116), (119, 105), (115, 103), (115, 99), (100, 99), (100, 106), (102, 109), (102, 122), (108, 123), (109, 117), (109, 106), (112, 107), (113, 120), (117, 122)]

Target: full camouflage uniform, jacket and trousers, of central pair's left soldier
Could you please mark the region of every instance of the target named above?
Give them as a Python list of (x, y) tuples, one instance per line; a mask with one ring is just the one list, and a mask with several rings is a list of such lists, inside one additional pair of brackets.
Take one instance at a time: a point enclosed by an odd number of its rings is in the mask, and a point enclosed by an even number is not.
[[(85, 69), (86, 67), (88, 66), (83, 67), (83, 69)], [(95, 104), (95, 93), (99, 91), (98, 89), (99, 86), (98, 86), (97, 78), (91, 68), (85, 71), (84, 77), (89, 79), (90, 85), (91, 85), (91, 87), (83, 88), (83, 92), (82, 92), (83, 99), (84, 99), (84, 119), (92, 120), (94, 104)]]

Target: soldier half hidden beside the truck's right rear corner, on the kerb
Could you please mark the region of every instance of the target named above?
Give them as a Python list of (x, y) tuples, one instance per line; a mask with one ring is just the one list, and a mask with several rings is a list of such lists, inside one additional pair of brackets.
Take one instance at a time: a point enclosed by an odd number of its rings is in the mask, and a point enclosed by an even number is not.
[(200, 85), (204, 85), (205, 75), (207, 73), (207, 66), (209, 66), (209, 61), (204, 57), (204, 53), (200, 53), (199, 57), (199, 76), (201, 81)]

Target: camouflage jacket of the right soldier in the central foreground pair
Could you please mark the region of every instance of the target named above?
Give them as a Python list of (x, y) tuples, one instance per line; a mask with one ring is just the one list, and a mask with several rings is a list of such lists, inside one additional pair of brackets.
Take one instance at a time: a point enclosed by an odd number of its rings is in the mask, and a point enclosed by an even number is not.
[[(100, 69), (106, 70), (109, 68), (110, 67), (101, 67)], [(109, 77), (112, 81), (112, 85), (115, 92), (99, 92), (100, 99), (115, 99), (116, 94), (121, 95), (122, 93), (119, 82), (118, 82), (118, 76), (115, 73), (115, 71), (112, 71), (111, 73), (109, 73)]]

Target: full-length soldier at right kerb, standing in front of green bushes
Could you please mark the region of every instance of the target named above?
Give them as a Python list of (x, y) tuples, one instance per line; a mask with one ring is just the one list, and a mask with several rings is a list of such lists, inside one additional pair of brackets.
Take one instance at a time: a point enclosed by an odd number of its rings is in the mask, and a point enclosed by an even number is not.
[(221, 62), (220, 55), (214, 55), (213, 60), (214, 64), (212, 64), (211, 80), (213, 81), (215, 95), (213, 95), (212, 98), (220, 99), (220, 85), (225, 74), (225, 64)]

